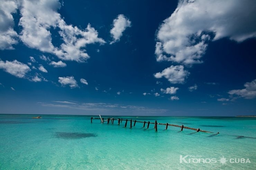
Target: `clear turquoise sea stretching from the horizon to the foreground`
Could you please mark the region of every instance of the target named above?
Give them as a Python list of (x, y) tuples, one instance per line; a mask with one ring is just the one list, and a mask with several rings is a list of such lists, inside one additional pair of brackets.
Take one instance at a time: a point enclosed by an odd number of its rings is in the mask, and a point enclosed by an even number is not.
[[(1, 170), (256, 169), (256, 118), (114, 117), (184, 125), (214, 133), (92, 116), (0, 114)], [(93, 116), (98, 117), (98, 116)], [(102, 116), (112, 118), (113, 116)], [(219, 134), (216, 135), (216, 133)]]

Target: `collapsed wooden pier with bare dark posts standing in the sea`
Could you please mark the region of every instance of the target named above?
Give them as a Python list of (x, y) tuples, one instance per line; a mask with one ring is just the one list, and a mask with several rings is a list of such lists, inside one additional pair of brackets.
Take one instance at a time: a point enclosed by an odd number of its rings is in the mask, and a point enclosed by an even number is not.
[[(118, 118), (118, 119), (115, 119), (115, 118), (93, 118), (93, 117), (91, 117), (91, 123), (92, 123), (92, 119), (101, 119), (101, 123), (104, 123), (104, 122), (106, 122), (107, 121), (107, 124), (109, 124), (109, 123), (114, 123), (114, 120), (118, 120), (118, 125), (120, 125), (120, 123), (122, 123), (122, 121), (123, 121), (123, 118)], [(105, 120), (104, 120), (105, 119)], [(111, 122), (110, 122), (111, 121)], [(167, 128), (168, 128), (168, 126), (175, 126), (175, 127), (179, 127), (179, 128), (181, 128), (181, 131), (183, 130), (183, 129), (191, 129), (191, 130), (195, 130), (196, 132), (205, 132), (205, 133), (213, 133), (213, 132), (209, 132), (209, 131), (205, 131), (205, 130), (201, 130), (200, 128), (198, 128), (198, 129), (196, 129), (196, 128), (190, 128), (190, 127), (186, 127), (186, 126), (183, 126), (183, 124), (181, 125), (181, 126), (179, 126), (179, 125), (176, 125), (176, 124), (169, 124), (169, 123), (157, 123), (157, 121), (155, 120), (155, 122), (150, 122), (150, 121), (148, 121), (148, 122), (146, 122), (146, 121), (137, 121), (137, 120), (128, 120), (128, 119), (125, 119), (124, 120), (125, 121), (125, 127), (127, 126), (127, 123), (128, 123), (128, 121), (130, 122), (130, 128), (132, 128), (132, 122), (134, 122), (134, 124), (133, 124), (133, 126), (135, 126), (135, 124), (137, 123), (137, 122), (139, 122), (139, 123), (143, 123), (143, 127), (145, 128), (145, 125), (146, 125), (146, 123), (147, 123), (147, 129), (149, 128), (149, 124), (154, 124), (155, 126), (154, 126), (154, 129), (155, 129), (155, 131), (157, 132), (157, 125), (165, 125), (166, 127), (165, 127), (165, 130), (167, 130)]]

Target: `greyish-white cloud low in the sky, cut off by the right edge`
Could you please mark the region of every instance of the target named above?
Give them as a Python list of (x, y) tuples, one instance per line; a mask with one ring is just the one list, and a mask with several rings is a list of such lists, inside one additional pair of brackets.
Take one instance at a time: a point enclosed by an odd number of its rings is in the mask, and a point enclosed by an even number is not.
[(244, 84), (245, 89), (240, 90), (230, 90), (228, 93), (230, 95), (237, 95), (245, 99), (254, 99), (256, 98), (256, 79), (251, 82)]

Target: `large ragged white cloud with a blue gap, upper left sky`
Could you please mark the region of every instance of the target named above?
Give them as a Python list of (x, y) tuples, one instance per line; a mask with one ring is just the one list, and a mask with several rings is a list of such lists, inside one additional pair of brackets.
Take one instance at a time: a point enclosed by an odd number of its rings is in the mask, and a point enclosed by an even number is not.
[[(84, 62), (90, 58), (85, 50), (87, 44), (106, 43), (98, 38), (98, 32), (90, 24), (85, 30), (67, 25), (57, 12), (61, 8), (58, 0), (24, 0), (19, 8), (19, 26), (22, 27), (20, 39), (30, 48), (55, 54), (62, 60)], [(60, 47), (52, 44), (52, 28), (60, 29), (58, 33), (64, 41)]]

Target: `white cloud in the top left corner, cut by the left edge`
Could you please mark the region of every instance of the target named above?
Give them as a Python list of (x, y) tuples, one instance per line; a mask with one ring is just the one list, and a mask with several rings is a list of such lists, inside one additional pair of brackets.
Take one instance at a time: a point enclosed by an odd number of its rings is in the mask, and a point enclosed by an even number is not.
[(12, 45), (18, 43), (18, 34), (13, 30), (12, 17), (12, 13), (16, 13), (17, 8), (15, 1), (0, 2), (0, 50), (14, 49)]

